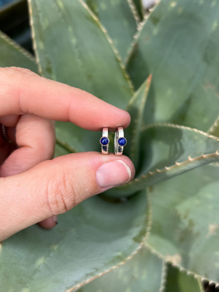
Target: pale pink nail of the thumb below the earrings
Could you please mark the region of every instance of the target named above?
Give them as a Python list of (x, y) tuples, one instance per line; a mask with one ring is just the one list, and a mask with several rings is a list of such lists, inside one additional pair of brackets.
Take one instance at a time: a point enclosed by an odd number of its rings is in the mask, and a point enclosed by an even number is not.
[(109, 187), (128, 183), (130, 179), (131, 170), (122, 160), (115, 160), (102, 164), (96, 172), (96, 182), (99, 187)]

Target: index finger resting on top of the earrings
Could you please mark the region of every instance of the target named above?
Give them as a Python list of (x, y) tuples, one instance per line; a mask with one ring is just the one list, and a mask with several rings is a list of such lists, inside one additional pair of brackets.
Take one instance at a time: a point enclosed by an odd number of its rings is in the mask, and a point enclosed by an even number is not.
[(89, 129), (127, 128), (130, 115), (91, 93), (40, 77), (30, 70), (0, 68), (0, 116), (33, 113)]

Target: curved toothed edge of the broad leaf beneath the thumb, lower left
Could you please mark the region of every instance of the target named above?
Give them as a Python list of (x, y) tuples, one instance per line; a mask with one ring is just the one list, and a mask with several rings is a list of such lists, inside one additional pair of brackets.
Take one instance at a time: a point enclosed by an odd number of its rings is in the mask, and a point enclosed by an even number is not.
[(113, 266), (112, 268), (102, 272), (102, 273), (99, 273), (97, 275), (95, 275), (94, 277), (91, 277), (90, 279), (87, 279), (86, 281), (66, 290), (65, 292), (73, 292), (75, 290), (78, 290), (79, 288), (83, 287), (84, 285), (92, 282), (93, 280), (119, 268), (120, 266), (124, 265), (127, 263), (128, 260), (132, 259), (140, 250), (141, 248), (145, 245), (145, 242), (146, 242), (146, 239), (147, 237), (149, 236), (149, 230), (151, 228), (151, 224), (152, 224), (152, 205), (151, 205), (151, 201), (150, 201), (150, 197), (147, 197), (147, 203), (148, 203), (148, 223), (147, 223), (147, 228), (146, 228), (146, 235), (145, 237), (143, 237), (142, 241), (140, 242), (138, 248), (130, 255), (128, 256), (127, 258), (125, 258), (123, 261), (121, 261), (120, 263), (118, 263), (117, 265)]

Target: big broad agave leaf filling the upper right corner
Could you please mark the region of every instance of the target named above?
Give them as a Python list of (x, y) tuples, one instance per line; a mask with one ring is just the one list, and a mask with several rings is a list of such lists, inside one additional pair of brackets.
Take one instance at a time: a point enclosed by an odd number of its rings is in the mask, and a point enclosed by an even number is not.
[(219, 114), (219, 2), (164, 0), (138, 33), (128, 72), (138, 88), (150, 73), (145, 123), (207, 131)]

